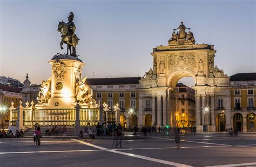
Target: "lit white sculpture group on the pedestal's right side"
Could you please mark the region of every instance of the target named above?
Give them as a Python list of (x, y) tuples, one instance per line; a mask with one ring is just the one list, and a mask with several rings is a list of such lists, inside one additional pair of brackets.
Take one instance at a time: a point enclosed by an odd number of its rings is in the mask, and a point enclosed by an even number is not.
[(79, 101), (81, 104), (87, 104), (89, 107), (97, 107), (96, 101), (92, 98), (92, 89), (89, 85), (86, 85), (87, 76), (82, 80), (77, 79), (76, 83), (76, 101)]

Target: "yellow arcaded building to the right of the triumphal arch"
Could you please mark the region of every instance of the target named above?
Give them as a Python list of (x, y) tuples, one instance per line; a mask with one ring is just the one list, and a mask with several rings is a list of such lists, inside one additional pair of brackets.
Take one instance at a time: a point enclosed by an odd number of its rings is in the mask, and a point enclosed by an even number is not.
[[(233, 128), (244, 132), (255, 131), (256, 72), (232, 75), (230, 76), (230, 85), (232, 86), (231, 121)], [(218, 107), (223, 107), (223, 99), (218, 99)], [(221, 124), (225, 124), (225, 122), (223, 121)]]

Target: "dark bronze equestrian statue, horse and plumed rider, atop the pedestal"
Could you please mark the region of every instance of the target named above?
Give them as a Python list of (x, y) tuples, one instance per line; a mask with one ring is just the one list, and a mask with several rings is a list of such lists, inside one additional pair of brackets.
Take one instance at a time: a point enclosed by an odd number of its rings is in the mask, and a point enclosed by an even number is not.
[[(66, 54), (70, 54), (71, 56), (76, 57), (76, 45), (78, 44), (79, 38), (75, 34), (76, 26), (73, 23), (74, 14), (73, 12), (69, 13), (68, 23), (59, 22), (58, 25), (58, 32), (62, 34), (62, 41), (60, 42), (60, 48), (63, 49), (63, 43), (66, 43), (67, 45), (67, 52)], [(72, 52), (71, 52), (72, 48)]]

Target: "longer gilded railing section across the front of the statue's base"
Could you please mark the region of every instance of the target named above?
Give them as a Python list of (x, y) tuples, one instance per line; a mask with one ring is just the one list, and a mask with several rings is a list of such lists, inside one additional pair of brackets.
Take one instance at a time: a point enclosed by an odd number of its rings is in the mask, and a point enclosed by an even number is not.
[(75, 109), (35, 109), (33, 122), (41, 126), (73, 126), (76, 120)]

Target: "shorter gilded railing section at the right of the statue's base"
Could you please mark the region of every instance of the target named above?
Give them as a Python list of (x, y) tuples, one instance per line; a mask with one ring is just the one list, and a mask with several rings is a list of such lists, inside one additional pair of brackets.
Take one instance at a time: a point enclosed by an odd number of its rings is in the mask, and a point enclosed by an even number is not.
[(99, 121), (98, 108), (80, 109), (80, 126), (96, 126)]

